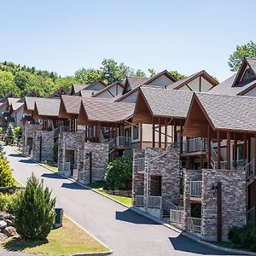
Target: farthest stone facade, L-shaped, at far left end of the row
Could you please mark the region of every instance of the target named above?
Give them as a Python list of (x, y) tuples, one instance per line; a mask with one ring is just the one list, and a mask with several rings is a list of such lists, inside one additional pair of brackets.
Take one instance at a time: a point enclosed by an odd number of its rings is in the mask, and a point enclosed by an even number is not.
[(25, 154), (29, 154), (32, 150), (32, 140), (36, 131), (42, 131), (43, 126), (38, 124), (26, 124), (23, 132), (23, 148), (22, 151)]

